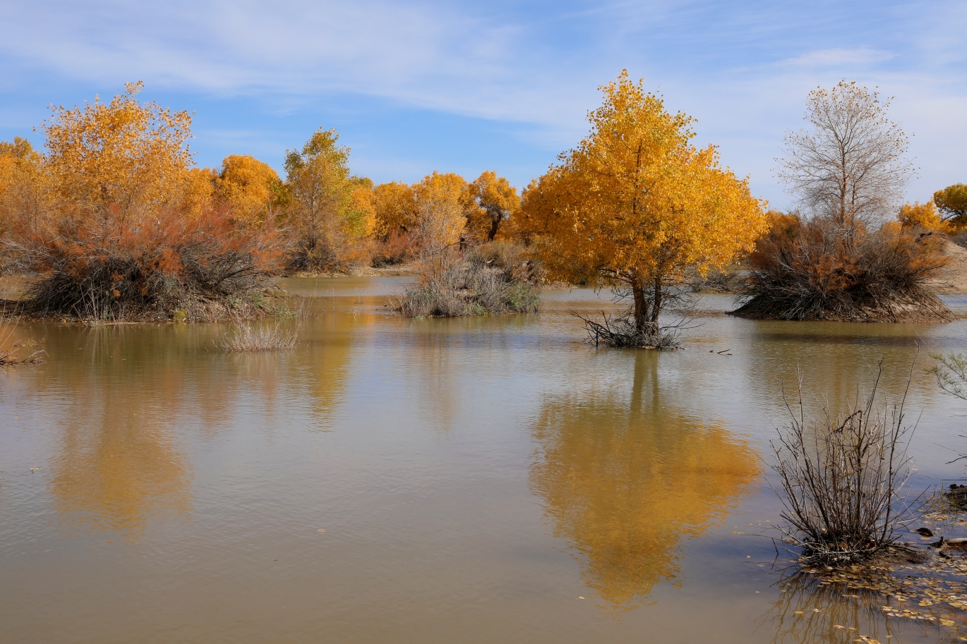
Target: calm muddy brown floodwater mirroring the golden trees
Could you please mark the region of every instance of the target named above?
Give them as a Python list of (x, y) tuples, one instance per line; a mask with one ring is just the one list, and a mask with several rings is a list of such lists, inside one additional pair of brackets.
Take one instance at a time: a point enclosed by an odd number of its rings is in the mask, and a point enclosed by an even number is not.
[(286, 280), (311, 299), (284, 355), (220, 353), (227, 325), (17, 328), (46, 362), (0, 372), (0, 642), (967, 637), (792, 587), (764, 465), (797, 366), (836, 406), (916, 358), (913, 486), (963, 478), (967, 402), (923, 371), (963, 320), (710, 313), (684, 351), (595, 350), (587, 289), (404, 320), (404, 281)]

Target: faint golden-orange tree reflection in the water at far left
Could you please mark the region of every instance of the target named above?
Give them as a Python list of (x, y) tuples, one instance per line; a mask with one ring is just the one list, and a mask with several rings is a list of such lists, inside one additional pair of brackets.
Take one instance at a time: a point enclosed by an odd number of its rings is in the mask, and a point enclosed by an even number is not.
[(63, 360), (46, 383), (66, 397), (51, 462), (54, 507), (73, 529), (136, 539), (150, 520), (191, 510), (190, 466), (174, 435), (183, 369), (141, 364), (141, 334), (97, 330), (75, 339), (87, 340), (73, 347), (79, 360)]

